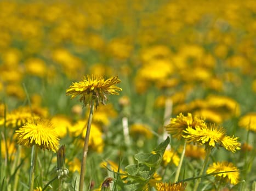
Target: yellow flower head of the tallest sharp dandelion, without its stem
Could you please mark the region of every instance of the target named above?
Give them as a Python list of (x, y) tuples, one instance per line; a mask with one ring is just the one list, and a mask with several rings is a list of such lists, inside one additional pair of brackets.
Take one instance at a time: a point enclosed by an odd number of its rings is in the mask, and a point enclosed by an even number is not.
[(118, 95), (119, 93), (116, 91), (122, 91), (122, 88), (116, 86), (120, 82), (118, 76), (105, 80), (102, 76), (87, 75), (87, 77), (83, 77), (82, 81), (73, 82), (66, 90), (66, 95), (71, 96), (71, 99), (81, 96), (79, 100), (83, 102), (84, 106), (95, 100), (97, 108), (99, 103), (105, 105), (108, 94)]

